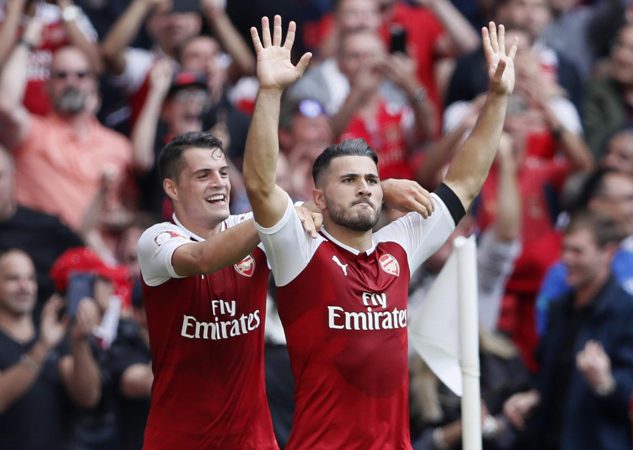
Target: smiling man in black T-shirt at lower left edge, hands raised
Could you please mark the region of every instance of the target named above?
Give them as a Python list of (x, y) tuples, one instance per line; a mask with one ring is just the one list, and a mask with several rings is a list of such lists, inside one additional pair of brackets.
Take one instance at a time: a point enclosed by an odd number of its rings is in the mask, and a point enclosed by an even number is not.
[(32, 316), (35, 267), (22, 250), (0, 254), (0, 449), (45, 450), (66, 442), (68, 397), (82, 408), (99, 401), (101, 377), (94, 371), (87, 336), (94, 309), (84, 302), (70, 327), (71, 351), (60, 350), (68, 316), (60, 297), (49, 299), (39, 328)]

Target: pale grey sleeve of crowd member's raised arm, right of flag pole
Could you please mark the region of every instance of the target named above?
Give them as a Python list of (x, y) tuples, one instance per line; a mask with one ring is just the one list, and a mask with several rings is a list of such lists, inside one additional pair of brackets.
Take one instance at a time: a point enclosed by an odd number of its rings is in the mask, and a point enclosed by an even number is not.
[(521, 252), (521, 242), (499, 241), (494, 227), (484, 231), (477, 245), (477, 284), (479, 286), (479, 320), (488, 330), (496, 330), (501, 298), (514, 263)]

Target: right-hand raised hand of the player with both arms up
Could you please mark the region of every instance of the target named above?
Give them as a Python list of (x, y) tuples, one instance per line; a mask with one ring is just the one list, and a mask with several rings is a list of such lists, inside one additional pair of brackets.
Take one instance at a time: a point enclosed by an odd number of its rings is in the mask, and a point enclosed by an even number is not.
[(499, 34), (494, 22), (481, 29), (484, 53), (490, 77), (490, 92), (510, 95), (514, 89), (514, 57), (517, 55), (518, 37), (515, 37), (506, 55), (505, 27), (499, 25)]

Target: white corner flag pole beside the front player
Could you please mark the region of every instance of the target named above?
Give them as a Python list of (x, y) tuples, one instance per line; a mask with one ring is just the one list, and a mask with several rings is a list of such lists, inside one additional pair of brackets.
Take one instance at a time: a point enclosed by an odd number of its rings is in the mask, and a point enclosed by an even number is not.
[(479, 312), (475, 236), (455, 238), (458, 280), (460, 365), (463, 379), (461, 427), (463, 450), (481, 450), (479, 387)]

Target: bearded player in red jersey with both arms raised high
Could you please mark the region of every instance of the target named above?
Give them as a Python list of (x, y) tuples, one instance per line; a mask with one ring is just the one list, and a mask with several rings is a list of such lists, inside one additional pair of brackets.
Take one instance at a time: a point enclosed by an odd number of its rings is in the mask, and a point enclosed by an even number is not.
[(251, 29), (260, 91), (244, 155), (244, 181), (272, 266), (279, 315), (296, 382), (288, 450), (411, 450), (406, 300), (410, 274), (435, 252), (479, 192), (496, 153), (514, 85), (516, 39), (482, 30), (491, 84), (477, 124), (430, 194), (409, 186), (417, 205), (372, 234), (383, 200), (374, 151), (342, 141), (316, 158), (313, 202), (323, 214), (316, 239), (301, 228), (289, 196), (275, 183), (280, 96), (301, 77), (290, 53), (296, 25), (282, 44), (281, 18), (271, 36)]

